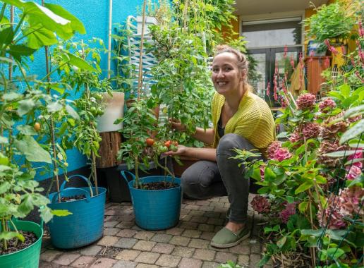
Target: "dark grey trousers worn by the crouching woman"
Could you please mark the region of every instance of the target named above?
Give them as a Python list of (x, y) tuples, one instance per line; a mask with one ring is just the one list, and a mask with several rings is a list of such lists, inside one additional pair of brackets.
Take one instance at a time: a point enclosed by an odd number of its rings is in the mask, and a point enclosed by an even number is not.
[(244, 178), (245, 166), (238, 164), (232, 149), (256, 149), (245, 138), (236, 134), (224, 135), (217, 146), (217, 162), (199, 161), (183, 172), (183, 193), (196, 199), (227, 195), (230, 202), (229, 220), (244, 223), (247, 219), (249, 179)]

